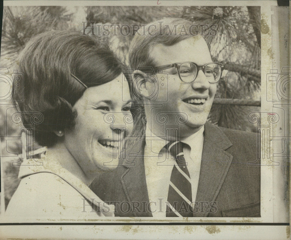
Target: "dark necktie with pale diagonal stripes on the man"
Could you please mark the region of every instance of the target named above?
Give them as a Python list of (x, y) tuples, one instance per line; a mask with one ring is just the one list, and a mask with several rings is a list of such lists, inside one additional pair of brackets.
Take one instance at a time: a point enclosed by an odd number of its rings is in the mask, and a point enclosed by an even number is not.
[(192, 188), (183, 143), (170, 142), (165, 147), (176, 159), (171, 173), (166, 217), (192, 217)]

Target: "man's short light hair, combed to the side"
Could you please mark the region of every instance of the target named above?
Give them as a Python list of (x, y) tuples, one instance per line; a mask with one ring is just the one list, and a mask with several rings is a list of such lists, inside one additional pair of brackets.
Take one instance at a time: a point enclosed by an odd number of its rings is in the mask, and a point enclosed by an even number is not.
[[(155, 67), (152, 48), (159, 43), (172, 46), (197, 35), (193, 34), (191, 26), (193, 26), (193, 23), (185, 19), (164, 18), (147, 24), (144, 32), (144, 29), (140, 28), (130, 43), (130, 68), (137, 70), (139, 67)], [(174, 29), (177, 29), (177, 31), (174, 31)]]

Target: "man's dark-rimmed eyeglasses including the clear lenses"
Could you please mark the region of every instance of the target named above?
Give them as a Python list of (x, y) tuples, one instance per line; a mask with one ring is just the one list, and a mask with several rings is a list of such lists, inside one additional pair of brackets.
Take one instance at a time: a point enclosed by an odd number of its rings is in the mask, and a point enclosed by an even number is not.
[(194, 82), (200, 70), (204, 72), (210, 83), (217, 83), (221, 78), (224, 65), (220, 63), (206, 63), (205, 65), (197, 65), (193, 62), (181, 62), (158, 66), (155, 67), (154, 70), (156, 72), (157, 70), (166, 70), (169, 68), (176, 68), (179, 78), (184, 83)]

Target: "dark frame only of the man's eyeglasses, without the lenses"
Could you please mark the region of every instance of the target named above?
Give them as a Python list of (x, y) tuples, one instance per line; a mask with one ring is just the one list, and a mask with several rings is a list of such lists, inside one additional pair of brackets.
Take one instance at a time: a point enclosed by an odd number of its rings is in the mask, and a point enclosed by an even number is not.
[[(194, 79), (191, 81), (191, 82), (184, 82), (183, 80), (182, 80), (182, 78), (181, 78), (181, 76), (180, 76), (180, 67), (181, 67), (181, 64), (182, 63), (193, 63), (195, 66), (196, 66), (196, 68), (197, 68), (197, 72), (196, 72), (196, 76), (194, 77)], [(176, 68), (176, 71), (177, 71), (177, 74), (178, 74), (178, 76), (179, 76), (179, 78), (180, 78), (180, 80), (183, 82), (183, 83), (193, 83), (195, 80), (196, 80), (196, 78), (197, 78), (197, 76), (198, 76), (198, 72), (200, 71), (200, 70), (202, 70), (203, 71), (203, 73), (205, 74), (205, 72), (204, 72), (204, 70), (205, 70), (205, 65), (208, 65), (208, 64), (213, 64), (213, 63), (215, 63), (215, 64), (218, 64), (220, 67), (221, 67), (221, 73), (220, 73), (220, 77), (218, 78), (218, 80), (217, 81), (215, 81), (215, 82), (209, 82), (209, 83), (217, 83), (220, 79), (221, 79), (221, 75), (222, 75), (222, 72), (223, 72), (223, 70), (224, 70), (224, 67), (225, 67), (225, 65), (224, 64), (221, 64), (221, 63), (216, 63), (216, 62), (210, 62), (210, 63), (206, 63), (206, 64), (204, 64), (204, 65), (198, 65), (198, 64), (196, 64), (196, 63), (194, 63), (194, 62), (179, 62), (179, 63), (172, 63), (172, 64), (167, 64), (167, 65), (162, 65), (162, 66), (157, 66), (157, 67), (154, 67), (153, 69), (154, 70), (166, 70), (166, 69), (169, 69), (169, 68)], [(179, 65), (180, 64), (180, 65)]]

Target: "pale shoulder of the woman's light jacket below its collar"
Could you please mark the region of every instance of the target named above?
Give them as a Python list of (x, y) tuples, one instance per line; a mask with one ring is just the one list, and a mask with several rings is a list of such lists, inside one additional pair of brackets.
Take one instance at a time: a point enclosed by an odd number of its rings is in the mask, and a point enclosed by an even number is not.
[[(79, 199), (78, 205), (75, 199)], [(79, 192), (61, 177), (40, 172), (22, 178), (8, 204), (6, 217), (54, 219), (76, 213), (76, 206), (82, 206)]]

